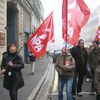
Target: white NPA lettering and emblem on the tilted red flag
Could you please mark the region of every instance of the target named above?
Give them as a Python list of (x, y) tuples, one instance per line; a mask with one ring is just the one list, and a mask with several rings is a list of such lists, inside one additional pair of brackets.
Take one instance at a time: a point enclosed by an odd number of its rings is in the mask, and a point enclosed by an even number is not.
[(44, 47), (42, 41), (47, 38), (47, 34), (42, 34), (41, 36), (37, 36), (37, 34), (31, 39), (32, 47), (36, 52), (40, 52)]

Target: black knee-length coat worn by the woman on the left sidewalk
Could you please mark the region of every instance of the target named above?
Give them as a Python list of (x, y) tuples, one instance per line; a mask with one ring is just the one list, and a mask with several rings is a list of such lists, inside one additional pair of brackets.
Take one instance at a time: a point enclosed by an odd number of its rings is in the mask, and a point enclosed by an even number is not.
[[(13, 59), (12, 62), (14, 64), (14, 67), (8, 66), (8, 62), (11, 61), (12, 59)], [(22, 68), (24, 68), (24, 63), (20, 55), (18, 55), (17, 53), (10, 54), (8, 52), (3, 54), (1, 69), (6, 69), (6, 72), (4, 73), (4, 81), (3, 81), (4, 88), (9, 90), (11, 89), (11, 87), (14, 87), (15, 89), (19, 89), (24, 86), (24, 80), (21, 73)]]

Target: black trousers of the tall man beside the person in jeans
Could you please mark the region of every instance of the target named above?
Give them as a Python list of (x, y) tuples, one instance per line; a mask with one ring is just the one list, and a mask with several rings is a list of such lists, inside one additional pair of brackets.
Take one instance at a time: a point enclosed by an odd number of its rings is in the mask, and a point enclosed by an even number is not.
[(73, 95), (76, 95), (76, 92), (79, 93), (82, 91), (83, 79), (84, 79), (84, 70), (83, 69), (75, 70), (73, 86), (72, 86)]

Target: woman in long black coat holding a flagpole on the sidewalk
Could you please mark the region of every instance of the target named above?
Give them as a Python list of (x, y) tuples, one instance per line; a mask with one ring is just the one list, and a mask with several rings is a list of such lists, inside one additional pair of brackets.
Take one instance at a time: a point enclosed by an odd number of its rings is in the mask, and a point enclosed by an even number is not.
[(17, 53), (16, 46), (9, 45), (7, 52), (3, 53), (1, 69), (5, 70), (3, 87), (9, 90), (11, 100), (17, 100), (17, 90), (24, 86), (22, 68), (24, 68), (24, 63)]

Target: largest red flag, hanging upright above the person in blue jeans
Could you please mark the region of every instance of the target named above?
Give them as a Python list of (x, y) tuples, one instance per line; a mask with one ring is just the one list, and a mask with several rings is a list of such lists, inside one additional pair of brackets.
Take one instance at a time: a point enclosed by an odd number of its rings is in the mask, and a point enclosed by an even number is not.
[(62, 37), (72, 45), (77, 44), (81, 28), (90, 17), (90, 10), (83, 0), (63, 0)]

